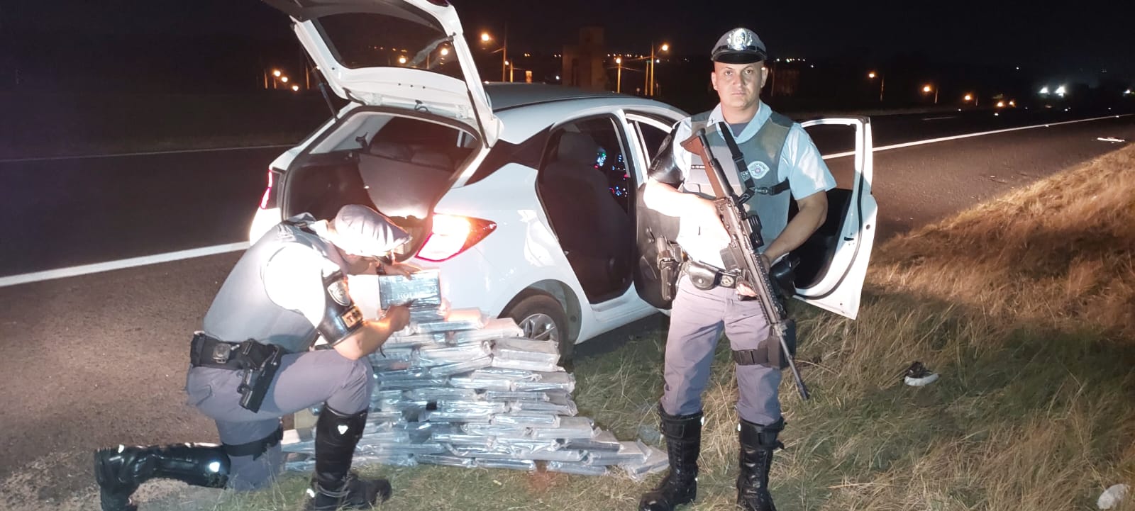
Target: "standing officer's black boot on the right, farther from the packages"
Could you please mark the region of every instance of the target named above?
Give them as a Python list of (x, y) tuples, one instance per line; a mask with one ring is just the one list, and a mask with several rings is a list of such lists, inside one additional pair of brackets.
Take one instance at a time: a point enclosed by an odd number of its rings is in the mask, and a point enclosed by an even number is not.
[(741, 419), (741, 474), (737, 476), (737, 505), (745, 511), (776, 511), (768, 493), (768, 469), (773, 451), (783, 449), (776, 434), (784, 429), (784, 419), (762, 426)]

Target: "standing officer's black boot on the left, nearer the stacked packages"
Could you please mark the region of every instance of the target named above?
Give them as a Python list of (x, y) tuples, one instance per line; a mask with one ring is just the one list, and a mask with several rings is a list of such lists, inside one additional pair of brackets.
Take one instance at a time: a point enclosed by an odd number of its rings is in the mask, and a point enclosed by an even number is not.
[(701, 451), (701, 412), (662, 417), (662, 434), (666, 437), (670, 472), (656, 488), (639, 500), (639, 511), (672, 511), (698, 496), (698, 452)]

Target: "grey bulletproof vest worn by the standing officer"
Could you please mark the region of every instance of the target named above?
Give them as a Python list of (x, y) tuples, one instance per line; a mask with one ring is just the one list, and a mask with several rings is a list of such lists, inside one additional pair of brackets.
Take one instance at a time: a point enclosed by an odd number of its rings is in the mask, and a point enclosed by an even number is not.
[[(690, 118), (690, 133), (697, 133), (706, 126), (711, 112), (703, 112)], [(781, 184), (779, 176), (781, 152), (784, 150), (784, 140), (788, 138), (789, 129), (792, 127), (792, 119), (780, 113), (772, 112), (768, 120), (757, 131), (753, 138), (738, 142), (741, 154), (745, 155), (745, 163), (753, 177), (754, 188), (772, 189)], [(728, 129), (728, 128), (726, 128)], [(718, 137), (716, 133), (708, 136)], [(721, 156), (718, 156), (720, 159)], [(725, 156), (728, 157), (728, 156)], [(682, 184), (687, 191), (698, 193), (704, 197), (713, 197), (713, 188), (709, 187), (709, 178), (706, 169), (700, 165), (700, 160), (695, 157), (695, 167), (690, 169), (689, 176)], [(739, 169), (740, 170), (740, 169)], [(737, 195), (743, 194), (745, 185), (738, 176), (726, 172), (725, 176)], [(792, 194), (784, 189), (780, 194), (766, 195), (754, 193), (753, 197), (745, 203), (749, 213), (756, 213), (760, 218), (760, 237), (765, 246), (773, 242), (788, 225), (789, 199)], [(764, 252), (764, 247), (759, 248)]]

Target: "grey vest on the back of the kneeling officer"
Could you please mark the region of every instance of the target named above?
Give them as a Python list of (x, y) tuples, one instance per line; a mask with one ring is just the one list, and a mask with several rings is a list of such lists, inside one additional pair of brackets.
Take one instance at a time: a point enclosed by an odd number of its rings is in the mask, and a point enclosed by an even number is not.
[[(291, 221), (313, 221), (310, 215)], [(299, 223), (284, 222), (269, 230), (236, 262), (220, 291), (205, 313), (204, 331), (216, 339), (241, 342), (255, 339), (266, 344), (279, 344), (288, 352), (306, 351), (318, 337), (303, 314), (276, 305), (264, 290), (261, 271), (268, 261), (287, 244), (301, 244), (319, 250), (346, 273), (346, 262), (329, 242)], [(318, 289), (313, 292), (319, 292)]]

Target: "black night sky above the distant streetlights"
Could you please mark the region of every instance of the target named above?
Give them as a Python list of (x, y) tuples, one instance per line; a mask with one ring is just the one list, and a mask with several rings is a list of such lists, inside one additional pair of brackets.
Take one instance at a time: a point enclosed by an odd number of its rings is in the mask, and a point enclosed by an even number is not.
[[(755, 29), (773, 56), (809, 59), (919, 53), (943, 62), (1027, 66), (1053, 74), (1135, 77), (1135, 2), (995, 1), (522, 1), (453, 0), (465, 31), (508, 29), (510, 51), (557, 51), (585, 25), (605, 27), (607, 48), (706, 54), (723, 32)], [(14, 1), (0, 31), (24, 44), (53, 34), (98, 37), (288, 39), (286, 18), (254, 0)], [(140, 48), (144, 51), (145, 48)], [(0, 51), (5, 51), (0, 49)]]

